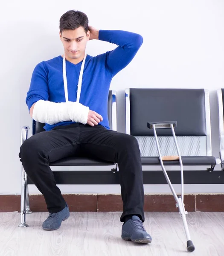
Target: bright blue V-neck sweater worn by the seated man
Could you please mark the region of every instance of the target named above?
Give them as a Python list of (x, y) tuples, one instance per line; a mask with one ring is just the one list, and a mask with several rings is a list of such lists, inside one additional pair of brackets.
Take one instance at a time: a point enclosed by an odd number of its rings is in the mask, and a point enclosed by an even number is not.
[[(109, 129), (108, 93), (111, 79), (134, 58), (143, 43), (143, 38), (132, 32), (100, 30), (99, 40), (116, 44), (118, 47), (95, 57), (87, 55), (79, 102), (99, 113), (103, 117), (100, 124)], [(40, 99), (65, 102), (62, 63), (63, 58), (58, 56), (49, 61), (42, 61), (35, 67), (26, 96), (29, 110)], [(66, 61), (68, 100), (72, 102), (76, 102), (81, 63), (82, 61), (78, 64)], [(73, 122), (45, 124), (44, 128), (49, 131), (55, 126), (71, 123)]]

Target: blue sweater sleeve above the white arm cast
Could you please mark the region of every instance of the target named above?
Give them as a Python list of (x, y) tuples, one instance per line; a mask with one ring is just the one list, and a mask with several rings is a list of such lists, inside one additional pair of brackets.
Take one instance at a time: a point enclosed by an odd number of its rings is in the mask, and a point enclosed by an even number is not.
[(39, 63), (32, 73), (29, 91), (26, 96), (28, 109), (30, 110), (32, 105), (40, 99), (49, 100), (47, 71), (44, 67), (44, 61)]

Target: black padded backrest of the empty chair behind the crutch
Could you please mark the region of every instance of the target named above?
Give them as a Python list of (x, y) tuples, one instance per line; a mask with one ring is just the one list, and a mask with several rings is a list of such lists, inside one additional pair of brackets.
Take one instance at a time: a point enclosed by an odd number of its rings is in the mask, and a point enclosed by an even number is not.
[[(205, 90), (130, 88), (131, 135), (154, 136), (149, 121), (177, 121), (177, 136), (206, 136)], [(172, 133), (157, 129), (157, 135)]]

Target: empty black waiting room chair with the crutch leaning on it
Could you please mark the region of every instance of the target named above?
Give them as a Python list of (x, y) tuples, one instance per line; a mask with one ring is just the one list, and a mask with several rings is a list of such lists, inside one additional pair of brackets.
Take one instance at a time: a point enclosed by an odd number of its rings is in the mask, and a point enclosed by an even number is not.
[[(209, 166), (212, 172), (219, 159), (212, 156), (209, 91), (204, 89), (125, 90), (126, 133), (136, 137), (143, 166), (160, 165), (153, 130), (148, 122), (177, 121), (175, 134), (183, 166)], [(177, 155), (171, 129), (158, 129), (162, 156)], [(164, 161), (179, 165), (179, 160)]]

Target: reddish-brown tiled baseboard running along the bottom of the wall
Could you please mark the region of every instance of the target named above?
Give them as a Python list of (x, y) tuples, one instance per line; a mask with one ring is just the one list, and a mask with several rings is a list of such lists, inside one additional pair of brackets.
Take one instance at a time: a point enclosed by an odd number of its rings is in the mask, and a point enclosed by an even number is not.
[[(64, 194), (71, 212), (122, 212), (121, 195)], [(178, 212), (172, 194), (146, 194), (145, 212)], [(29, 195), (33, 212), (47, 212), (43, 195)], [(188, 212), (224, 212), (224, 194), (186, 194)], [(20, 195), (0, 195), (0, 212), (20, 212)]]

